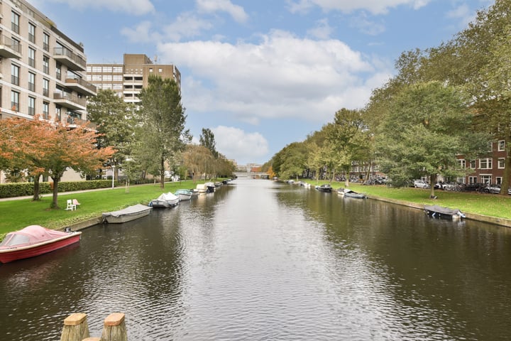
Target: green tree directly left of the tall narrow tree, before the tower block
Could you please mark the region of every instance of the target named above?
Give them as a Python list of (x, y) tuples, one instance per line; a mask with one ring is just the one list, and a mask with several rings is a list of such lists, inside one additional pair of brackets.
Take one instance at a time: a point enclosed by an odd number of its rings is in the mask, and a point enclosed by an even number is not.
[[(132, 105), (123, 101), (113, 90), (98, 90), (87, 102), (87, 116), (97, 125), (99, 146), (115, 146), (112, 166), (119, 166), (133, 150), (134, 129), (137, 124)], [(119, 171), (119, 167), (116, 168)], [(115, 177), (115, 174), (112, 175)]]

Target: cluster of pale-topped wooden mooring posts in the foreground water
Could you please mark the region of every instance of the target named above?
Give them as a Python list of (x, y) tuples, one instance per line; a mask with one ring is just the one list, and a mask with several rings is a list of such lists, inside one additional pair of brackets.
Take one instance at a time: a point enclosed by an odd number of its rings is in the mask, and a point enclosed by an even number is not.
[(124, 314), (110, 314), (104, 320), (101, 337), (90, 337), (87, 315), (73, 313), (64, 320), (60, 341), (128, 341)]

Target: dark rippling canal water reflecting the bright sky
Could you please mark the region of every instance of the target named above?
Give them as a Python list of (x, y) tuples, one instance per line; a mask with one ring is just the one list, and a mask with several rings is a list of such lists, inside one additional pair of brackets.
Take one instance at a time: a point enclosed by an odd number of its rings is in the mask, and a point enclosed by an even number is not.
[(511, 229), (237, 179), (0, 265), (0, 340), (509, 340)]

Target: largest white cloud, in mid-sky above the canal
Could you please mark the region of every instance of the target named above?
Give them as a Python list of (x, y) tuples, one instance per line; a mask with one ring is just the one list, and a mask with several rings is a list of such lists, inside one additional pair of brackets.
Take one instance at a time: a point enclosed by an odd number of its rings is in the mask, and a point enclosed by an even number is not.
[(282, 31), (261, 36), (259, 43), (166, 43), (158, 55), (187, 68), (187, 109), (223, 112), (251, 124), (282, 118), (324, 122), (341, 107), (363, 107), (372, 90), (365, 77), (375, 72), (368, 58), (339, 40)]

